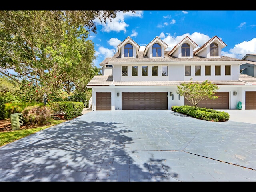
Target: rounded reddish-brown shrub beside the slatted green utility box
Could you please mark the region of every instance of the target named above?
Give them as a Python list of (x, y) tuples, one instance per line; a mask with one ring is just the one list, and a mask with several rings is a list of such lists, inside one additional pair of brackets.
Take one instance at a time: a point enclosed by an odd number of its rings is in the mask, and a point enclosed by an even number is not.
[(22, 110), (26, 125), (46, 125), (51, 118), (51, 109), (47, 106), (28, 106)]

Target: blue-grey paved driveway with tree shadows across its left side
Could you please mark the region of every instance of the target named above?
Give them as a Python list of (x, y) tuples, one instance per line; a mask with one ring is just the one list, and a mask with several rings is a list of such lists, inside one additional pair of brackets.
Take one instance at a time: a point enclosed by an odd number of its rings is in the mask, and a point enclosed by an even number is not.
[(0, 181), (256, 181), (256, 124), (91, 111), (0, 147)]

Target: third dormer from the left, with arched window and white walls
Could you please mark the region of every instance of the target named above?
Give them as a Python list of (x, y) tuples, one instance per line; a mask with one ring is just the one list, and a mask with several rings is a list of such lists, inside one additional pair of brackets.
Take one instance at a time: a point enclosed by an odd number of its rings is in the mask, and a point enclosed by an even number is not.
[(177, 58), (193, 58), (193, 50), (198, 45), (192, 41), (188, 36), (181, 40), (168, 55)]

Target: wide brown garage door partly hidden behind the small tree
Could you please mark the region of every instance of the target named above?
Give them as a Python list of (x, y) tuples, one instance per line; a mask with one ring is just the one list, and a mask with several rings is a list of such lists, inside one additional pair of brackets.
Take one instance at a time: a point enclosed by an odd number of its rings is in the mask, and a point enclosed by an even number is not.
[[(216, 92), (215, 96), (218, 96), (218, 99), (204, 99), (197, 106), (209, 109), (229, 109), (229, 92)], [(186, 99), (185, 105), (192, 106)]]

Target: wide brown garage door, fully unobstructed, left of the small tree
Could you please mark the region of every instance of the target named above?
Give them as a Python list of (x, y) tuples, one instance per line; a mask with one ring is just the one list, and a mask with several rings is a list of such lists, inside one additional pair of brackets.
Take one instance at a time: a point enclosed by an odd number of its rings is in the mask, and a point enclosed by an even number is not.
[(122, 110), (164, 110), (167, 92), (122, 92)]

